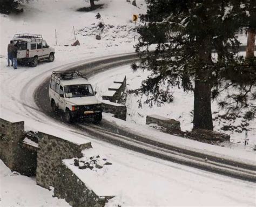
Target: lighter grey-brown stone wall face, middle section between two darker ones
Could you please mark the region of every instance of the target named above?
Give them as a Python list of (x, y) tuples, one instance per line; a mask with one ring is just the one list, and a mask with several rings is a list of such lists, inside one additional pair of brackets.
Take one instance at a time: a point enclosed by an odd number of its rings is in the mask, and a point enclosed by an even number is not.
[(62, 160), (82, 157), (82, 150), (91, 148), (91, 143), (75, 144), (49, 134), (38, 133), (36, 181), (44, 188), (56, 186), (58, 168)]

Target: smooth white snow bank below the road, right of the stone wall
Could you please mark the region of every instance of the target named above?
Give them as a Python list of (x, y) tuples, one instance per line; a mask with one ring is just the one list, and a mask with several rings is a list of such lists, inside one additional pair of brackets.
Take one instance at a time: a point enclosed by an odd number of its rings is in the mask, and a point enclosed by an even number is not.
[[(87, 187), (98, 196), (116, 197), (107, 206), (253, 206), (254, 184), (187, 168), (134, 151), (102, 147), (85, 150), (91, 156), (104, 158), (102, 169), (78, 169), (73, 160), (64, 160)], [(184, 199), (186, 198), (186, 199)]]

